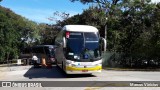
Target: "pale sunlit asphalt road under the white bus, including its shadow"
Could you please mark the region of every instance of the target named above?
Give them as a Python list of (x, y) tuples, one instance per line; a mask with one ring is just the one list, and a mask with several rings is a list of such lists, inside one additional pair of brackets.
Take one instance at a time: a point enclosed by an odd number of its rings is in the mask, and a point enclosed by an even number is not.
[[(32, 66), (12, 66), (2, 69), (0, 67), (0, 81), (68, 81), (67, 83), (76, 83), (69, 81), (91, 81), (90, 87), (71, 87), (62, 85), (65, 87), (41, 87), (41, 88), (0, 88), (0, 90), (160, 90), (159, 87), (107, 87), (106, 84), (96, 85), (98, 81), (160, 81), (160, 72), (149, 71), (113, 71), (103, 70), (101, 73), (95, 73), (92, 75), (66, 75), (59, 67), (53, 66), (52, 68), (33, 68)], [(84, 81), (84, 82), (83, 82)], [(54, 83), (55, 83), (54, 82)], [(54, 84), (53, 83), (53, 84)], [(115, 82), (116, 83), (116, 82)], [(65, 84), (65, 83), (64, 83)], [(114, 82), (112, 83), (114, 84)], [(117, 83), (116, 83), (117, 84)], [(118, 85), (117, 84), (117, 85)], [(70, 84), (71, 85), (71, 84)], [(115, 85), (115, 84), (114, 84)], [(114, 86), (113, 85), (113, 86)], [(119, 85), (121, 86), (121, 85)], [(160, 86), (160, 85), (159, 85)]]

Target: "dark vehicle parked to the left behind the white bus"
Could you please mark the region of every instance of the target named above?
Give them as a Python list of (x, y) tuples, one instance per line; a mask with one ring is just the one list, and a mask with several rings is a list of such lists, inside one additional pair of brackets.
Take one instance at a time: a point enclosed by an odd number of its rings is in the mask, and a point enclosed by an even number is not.
[[(46, 60), (46, 64), (53, 64), (55, 63), (54, 49), (55, 47), (53, 45), (37, 45), (28, 47), (22, 50), (20, 57), (26, 62), (36, 66), (42, 64), (42, 58)], [(33, 57), (36, 57), (37, 60), (33, 60)]]

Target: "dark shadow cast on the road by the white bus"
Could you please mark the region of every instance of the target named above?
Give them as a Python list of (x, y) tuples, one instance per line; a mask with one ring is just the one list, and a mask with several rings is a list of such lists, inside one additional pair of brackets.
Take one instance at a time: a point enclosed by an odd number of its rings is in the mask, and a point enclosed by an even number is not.
[(95, 77), (90, 74), (71, 74), (67, 75), (58, 66), (52, 66), (52, 68), (34, 68), (31, 67), (25, 74), (24, 77), (29, 79), (32, 78), (85, 78)]

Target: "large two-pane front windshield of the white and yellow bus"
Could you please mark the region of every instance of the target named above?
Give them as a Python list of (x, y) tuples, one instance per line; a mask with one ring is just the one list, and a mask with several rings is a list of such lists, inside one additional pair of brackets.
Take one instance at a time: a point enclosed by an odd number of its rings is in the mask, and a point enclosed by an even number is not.
[(70, 32), (67, 38), (67, 59), (99, 60), (99, 52), (99, 35), (97, 32)]

